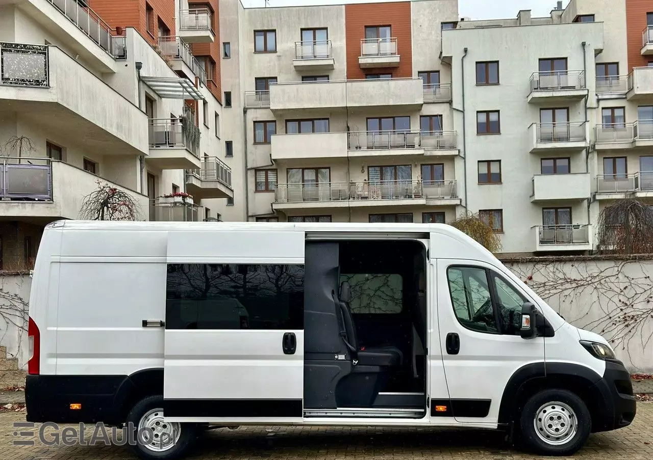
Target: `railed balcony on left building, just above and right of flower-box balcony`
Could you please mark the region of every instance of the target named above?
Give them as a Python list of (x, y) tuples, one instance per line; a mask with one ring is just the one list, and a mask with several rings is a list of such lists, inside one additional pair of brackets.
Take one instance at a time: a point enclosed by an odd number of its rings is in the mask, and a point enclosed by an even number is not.
[(233, 198), (231, 168), (217, 157), (204, 157), (199, 169), (186, 170), (186, 191), (195, 198)]

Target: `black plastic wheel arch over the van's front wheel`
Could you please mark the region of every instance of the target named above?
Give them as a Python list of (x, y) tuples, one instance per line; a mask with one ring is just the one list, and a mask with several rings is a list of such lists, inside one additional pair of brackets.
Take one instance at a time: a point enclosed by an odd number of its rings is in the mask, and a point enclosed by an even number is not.
[(572, 363), (547, 363), (546, 371), (543, 362), (520, 367), (503, 390), (499, 424), (509, 427), (512, 433), (513, 428), (518, 427), (518, 414), (529, 397), (538, 391), (554, 388), (569, 390), (578, 395), (590, 410), (592, 420), (601, 420), (603, 406), (600, 401), (603, 397), (596, 388), (596, 383), (601, 378), (592, 369)]

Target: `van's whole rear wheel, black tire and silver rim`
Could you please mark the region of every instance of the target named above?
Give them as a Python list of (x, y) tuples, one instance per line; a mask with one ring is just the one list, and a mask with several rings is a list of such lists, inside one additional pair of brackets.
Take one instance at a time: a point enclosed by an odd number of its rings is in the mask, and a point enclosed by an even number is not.
[(163, 396), (148, 396), (136, 403), (127, 415), (127, 429), (135, 440), (132, 448), (143, 460), (180, 459), (195, 439), (192, 423), (167, 422), (163, 416)]

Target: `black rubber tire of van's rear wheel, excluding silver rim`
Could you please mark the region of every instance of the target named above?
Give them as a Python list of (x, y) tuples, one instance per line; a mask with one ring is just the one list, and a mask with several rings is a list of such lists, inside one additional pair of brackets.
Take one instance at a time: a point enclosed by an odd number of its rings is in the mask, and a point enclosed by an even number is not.
[[(135, 443), (131, 444), (133, 451), (143, 460), (176, 460), (180, 459), (188, 452), (189, 448), (193, 444), (193, 441), (196, 438), (197, 429), (193, 423), (180, 423), (179, 424), (179, 438), (177, 442), (174, 443), (174, 446), (168, 448), (167, 450), (155, 451), (151, 450), (146, 446), (146, 443), (142, 441), (142, 438), (138, 437), (138, 423), (141, 418), (148, 414), (151, 410), (160, 409), (163, 407), (163, 396), (154, 395), (148, 396), (136, 403), (131, 409), (129, 414), (127, 414), (127, 429), (131, 429), (133, 433), (131, 434), (130, 439), (136, 440)], [(163, 410), (157, 411), (161, 412), (163, 415)], [(158, 413), (156, 414), (159, 415)], [(162, 425), (165, 426), (165, 425)]]

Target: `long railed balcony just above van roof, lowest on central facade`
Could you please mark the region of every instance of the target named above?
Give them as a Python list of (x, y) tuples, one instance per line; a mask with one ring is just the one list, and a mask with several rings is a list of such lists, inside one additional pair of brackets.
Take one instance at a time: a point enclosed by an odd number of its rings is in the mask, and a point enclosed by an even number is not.
[(330, 207), (456, 206), (456, 181), (351, 181), (278, 184), (274, 209)]

